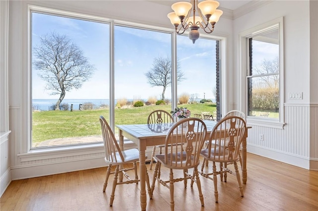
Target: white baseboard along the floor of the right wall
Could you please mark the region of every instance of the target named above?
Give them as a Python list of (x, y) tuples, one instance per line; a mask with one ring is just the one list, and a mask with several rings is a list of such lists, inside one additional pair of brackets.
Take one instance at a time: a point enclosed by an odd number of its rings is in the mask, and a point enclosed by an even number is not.
[(273, 150), (269, 148), (263, 148), (263, 147), (260, 147), (257, 145), (251, 145), (251, 144), (247, 144), (247, 152), (258, 155), (258, 156), (262, 156), (265, 158), (281, 161), (287, 164), (295, 165), (295, 166), (305, 168), (308, 170), (315, 170), (315, 169), (310, 169), (309, 158), (305, 158), (305, 157), (301, 157), (301, 156), (297, 156), (293, 154), (288, 154), (282, 151), (277, 151), (277, 150)]

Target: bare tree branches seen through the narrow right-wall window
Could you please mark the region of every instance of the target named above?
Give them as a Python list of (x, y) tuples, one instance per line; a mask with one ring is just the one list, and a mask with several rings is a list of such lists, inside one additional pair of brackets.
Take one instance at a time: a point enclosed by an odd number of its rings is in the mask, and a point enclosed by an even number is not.
[(266, 75), (260, 77), (259, 79), (262, 80), (267, 87), (277, 88), (279, 84), (279, 58), (276, 56), (272, 60), (263, 59), (262, 63), (258, 64), (257, 66), (253, 67), (253, 72), (256, 72), (257, 75), (262, 74), (273, 74), (273, 75)]

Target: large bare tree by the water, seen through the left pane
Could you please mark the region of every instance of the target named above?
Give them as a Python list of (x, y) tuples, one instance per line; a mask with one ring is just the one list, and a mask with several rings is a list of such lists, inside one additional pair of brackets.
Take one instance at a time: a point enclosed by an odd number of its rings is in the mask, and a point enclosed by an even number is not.
[(47, 82), (45, 89), (52, 90), (50, 95), (60, 95), (55, 105), (59, 110), (66, 92), (81, 88), (95, 68), (66, 35), (53, 32), (40, 37), (40, 44), (33, 50), (37, 58), (33, 66), (39, 70), (39, 77)]

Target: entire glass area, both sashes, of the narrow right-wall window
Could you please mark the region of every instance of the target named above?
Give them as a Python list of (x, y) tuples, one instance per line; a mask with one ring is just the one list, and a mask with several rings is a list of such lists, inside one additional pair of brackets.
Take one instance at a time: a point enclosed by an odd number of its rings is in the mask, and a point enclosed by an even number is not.
[(278, 35), (277, 28), (249, 39), (249, 116), (279, 118)]

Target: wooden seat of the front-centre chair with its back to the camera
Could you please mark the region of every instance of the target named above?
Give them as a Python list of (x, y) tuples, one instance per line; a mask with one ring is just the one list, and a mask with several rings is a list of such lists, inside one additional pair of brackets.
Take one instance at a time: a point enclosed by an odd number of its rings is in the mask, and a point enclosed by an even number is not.
[[(164, 162), (164, 155), (163, 154), (159, 154), (159, 155), (156, 155), (155, 158), (161, 162), (161, 164), (163, 166), (168, 166), (169, 168), (172, 168), (172, 169), (184, 169), (184, 167), (186, 166), (186, 153), (185, 152), (182, 152), (182, 153), (177, 153), (177, 154), (167, 154), (167, 160), (166, 160), (166, 163), (168, 163), (167, 165), (165, 164)], [(194, 163), (193, 160), (194, 157), (191, 156), (191, 163)], [(180, 166), (182, 163), (182, 166)], [(199, 164), (199, 163), (198, 163)], [(198, 166), (198, 165), (196, 165)], [(189, 166), (190, 167), (190, 166)]]

